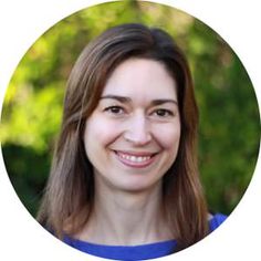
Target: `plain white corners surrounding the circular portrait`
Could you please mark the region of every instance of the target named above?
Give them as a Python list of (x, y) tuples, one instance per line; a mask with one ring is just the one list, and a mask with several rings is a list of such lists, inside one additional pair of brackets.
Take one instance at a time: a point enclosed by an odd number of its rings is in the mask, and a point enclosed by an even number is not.
[[(20, 59), (64, 17), (98, 1), (0, 1), (0, 103)], [(104, 1), (100, 1), (104, 2)], [(210, 25), (244, 64), (261, 102), (259, 1), (155, 1), (179, 8)], [(170, 3), (171, 2), (171, 3)], [(246, 123), (248, 124), (248, 123)], [(226, 153), (226, 152), (225, 152)], [(35, 167), (36, 168), (36, 167)], [(261, 260), (261, 164), (232, 215), (215, 233), (167, 260)], [(0, 260), (90, 260), (41, 229), (15, 195), (0, 155)]]

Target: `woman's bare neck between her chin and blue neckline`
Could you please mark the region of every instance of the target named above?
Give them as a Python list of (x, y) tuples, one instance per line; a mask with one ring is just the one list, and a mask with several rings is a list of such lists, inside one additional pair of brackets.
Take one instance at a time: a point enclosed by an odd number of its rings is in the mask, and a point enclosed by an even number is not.
[(117, 246), (173, 239), (164, 220), (161, 184), (138, 192), (106, 188), (95, 191), (95, 207), (83, 239)]

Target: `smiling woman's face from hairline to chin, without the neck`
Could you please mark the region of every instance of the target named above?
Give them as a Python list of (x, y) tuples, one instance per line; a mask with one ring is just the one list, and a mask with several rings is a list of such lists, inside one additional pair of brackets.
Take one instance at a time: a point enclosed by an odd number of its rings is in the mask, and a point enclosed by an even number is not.
[(116, 67), (84, 132), (96, 185), (125, 191), (160, 186), (179, 146), (176, 90), (159, 62), (129, 59)]

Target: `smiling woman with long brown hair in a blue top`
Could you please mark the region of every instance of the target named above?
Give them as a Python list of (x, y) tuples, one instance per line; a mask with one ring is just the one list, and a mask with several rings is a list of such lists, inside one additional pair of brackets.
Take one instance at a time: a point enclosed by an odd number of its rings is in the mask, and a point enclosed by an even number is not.
[(164, 257), (206, 237), (198, 109), (188, 63), (163, 30), (123, 24), (80, 55), (39, 221), (108, 259)]

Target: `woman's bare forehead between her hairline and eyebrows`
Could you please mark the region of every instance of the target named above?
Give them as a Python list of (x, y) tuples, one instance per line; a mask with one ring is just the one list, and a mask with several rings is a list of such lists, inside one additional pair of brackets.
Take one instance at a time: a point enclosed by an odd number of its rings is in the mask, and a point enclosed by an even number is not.
[(165, 65), (148, 59), (129, 59), (119, 64), (107, 80), (102, 95), (133, 98), (177, 98), (176, 81)]

